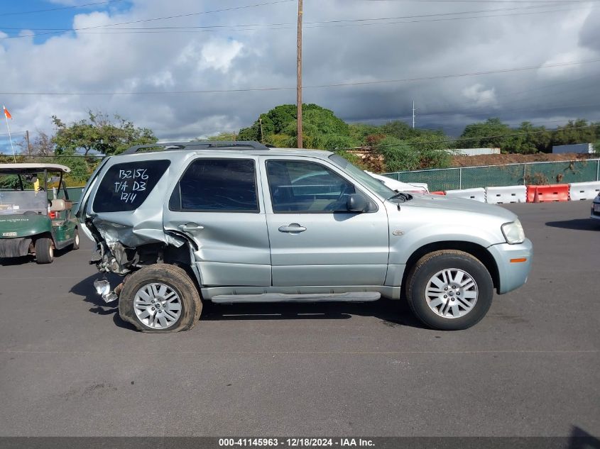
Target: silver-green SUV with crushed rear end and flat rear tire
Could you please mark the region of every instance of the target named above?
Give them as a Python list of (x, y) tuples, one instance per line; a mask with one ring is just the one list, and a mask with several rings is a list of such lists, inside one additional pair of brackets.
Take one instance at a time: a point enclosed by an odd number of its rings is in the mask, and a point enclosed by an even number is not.
[(94, 282), (141, 331), (192, 328), (202, 301), (405, 297), (422, 323), (464, 329), (523, 285), (532, 245), (515, 214), (394, 192), (327, 151), (255, 142), (138, 145), (107, 157), (78, 212)]

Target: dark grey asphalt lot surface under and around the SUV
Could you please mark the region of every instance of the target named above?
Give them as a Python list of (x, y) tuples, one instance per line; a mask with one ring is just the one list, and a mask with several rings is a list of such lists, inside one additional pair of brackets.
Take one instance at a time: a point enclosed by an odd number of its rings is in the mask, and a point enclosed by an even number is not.
[(148, 335), (94, 293), (87, 239), (52, 265), (0, 261), (0, 436), (598, 436), (589, 205), (506, 206), (533, 272), (457, 332), (381, 300), (207, 305)]

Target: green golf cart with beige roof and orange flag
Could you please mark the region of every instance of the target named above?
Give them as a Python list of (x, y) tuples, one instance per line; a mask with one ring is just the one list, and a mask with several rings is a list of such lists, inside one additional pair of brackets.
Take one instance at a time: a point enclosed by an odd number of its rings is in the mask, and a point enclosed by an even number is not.
[(62, 179), (70, 171), (58, 164), (0, 164), (0, 258), (33, 254), (36, 262), (51, 263), (55, 249), (79, 248)]

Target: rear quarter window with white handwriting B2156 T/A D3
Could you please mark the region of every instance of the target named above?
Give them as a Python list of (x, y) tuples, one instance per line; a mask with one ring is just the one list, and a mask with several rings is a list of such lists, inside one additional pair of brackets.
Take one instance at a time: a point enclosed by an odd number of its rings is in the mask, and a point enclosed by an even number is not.
[(134, 211), (167, 171), (169, 160), (115, 164), (107, 170), (94, 198), (94, 212)]

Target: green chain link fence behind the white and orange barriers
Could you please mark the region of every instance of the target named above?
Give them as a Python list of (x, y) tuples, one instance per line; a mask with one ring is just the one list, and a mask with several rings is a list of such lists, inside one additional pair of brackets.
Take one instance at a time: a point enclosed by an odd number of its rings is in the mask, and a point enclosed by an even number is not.
[(431, 192), (474, 187), (569, 184), (600, 180), (600, 159), (456, 167), (384, 173), (401, 182), (427, 182)]

